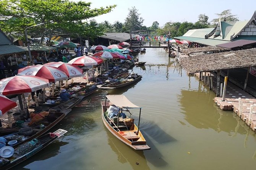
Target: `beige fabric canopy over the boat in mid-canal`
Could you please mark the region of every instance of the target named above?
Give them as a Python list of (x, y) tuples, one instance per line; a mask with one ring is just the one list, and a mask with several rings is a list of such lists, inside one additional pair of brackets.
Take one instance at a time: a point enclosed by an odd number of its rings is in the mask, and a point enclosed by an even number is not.
[(124, 95), (107, 95), (106, 97), (119, 108), (141, 108), (131, 103)]

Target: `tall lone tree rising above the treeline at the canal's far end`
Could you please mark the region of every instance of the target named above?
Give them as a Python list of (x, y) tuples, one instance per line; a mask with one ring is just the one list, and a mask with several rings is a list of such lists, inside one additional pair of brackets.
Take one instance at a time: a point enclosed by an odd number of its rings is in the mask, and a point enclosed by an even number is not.
[(144, 19), (139, 17), (140, 14), (138, 13), (138, 10), (135, 8), (135, 6), (133, 6), (131, 9), (128, 8), (128, 10), (129, 13), (125, 19), (124, 29), (132, 31), (141, 29)]

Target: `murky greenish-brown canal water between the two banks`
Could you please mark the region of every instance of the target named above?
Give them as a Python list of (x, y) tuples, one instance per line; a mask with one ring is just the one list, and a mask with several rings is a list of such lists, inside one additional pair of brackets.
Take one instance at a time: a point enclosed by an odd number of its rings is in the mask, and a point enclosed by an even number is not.
[[(232, 111), (221, 111), (215, 94), (180, 70), (161, 48), (138, 55), (141, 81), (98, 90), (74, 107), (57, 127), (62, 138), (13, 169), (31, 170), (241, 170), (255, 168), (256, 137)], [(125, 95), (142, 107), (141, 132), (152, 148), (134, 151), (101, 119), (105, 95)], [(133, 114), (138, 119), (138, 114)], [(52, 130), (52, 131), (53, 131)]]

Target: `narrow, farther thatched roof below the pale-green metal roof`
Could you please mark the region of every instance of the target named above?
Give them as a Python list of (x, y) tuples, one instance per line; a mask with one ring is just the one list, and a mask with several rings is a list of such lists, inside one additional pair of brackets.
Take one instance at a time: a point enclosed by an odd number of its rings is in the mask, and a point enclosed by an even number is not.
[(207, 46), (207, 47), (198, 47), (198, 48), (183, 48), (181, 49), (182, 53), (185, 53), (186, 55), (190, 55), (191, 53), (202, 53), (207, 51), (229, 51), (228, 48), (223, 47), (213, 47), (213, 46)]

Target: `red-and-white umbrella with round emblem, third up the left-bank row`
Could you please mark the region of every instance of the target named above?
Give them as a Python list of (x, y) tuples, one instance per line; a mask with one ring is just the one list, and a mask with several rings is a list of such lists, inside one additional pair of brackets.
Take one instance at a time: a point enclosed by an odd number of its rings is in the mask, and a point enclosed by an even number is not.
[(60, 62), (46, 63), (44, 65), (57, 67), (59, 69), (62, 69), (69, 78), (82, 77), (83, 76), (83, 69), (80, 69), (79, 67), (74, 66), (74, 65), (69, 64), (69, 63), (63, 63), (63, 62), (60, 61)]

